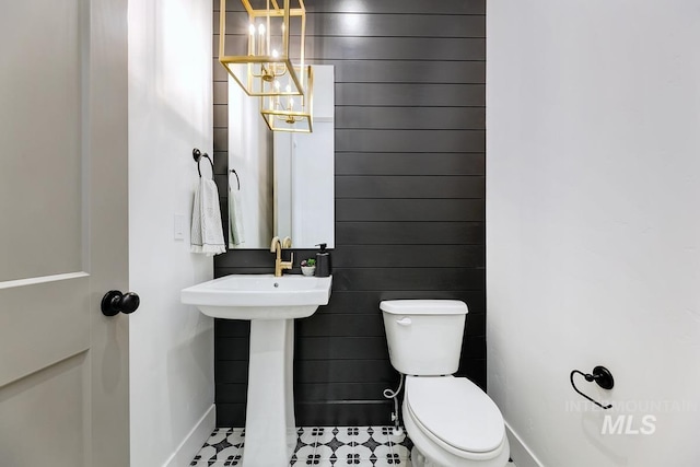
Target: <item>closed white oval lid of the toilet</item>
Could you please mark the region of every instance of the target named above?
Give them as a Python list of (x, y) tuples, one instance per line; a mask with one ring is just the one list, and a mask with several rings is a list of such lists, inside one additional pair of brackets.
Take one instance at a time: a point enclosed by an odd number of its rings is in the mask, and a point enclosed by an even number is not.
[(503, 442), (501, 411), (465, 377), (409, 376), (406, 401), (420, 424), (457, 450), (485, 453)]

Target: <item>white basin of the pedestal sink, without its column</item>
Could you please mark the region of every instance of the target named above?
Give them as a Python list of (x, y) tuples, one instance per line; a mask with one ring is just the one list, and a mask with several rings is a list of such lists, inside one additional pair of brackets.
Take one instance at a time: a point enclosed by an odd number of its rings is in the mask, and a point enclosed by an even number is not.
[(294, 319), (327, 305), (331, 278), (231, 275), (184, 289), (183, 303), (225, 319)]

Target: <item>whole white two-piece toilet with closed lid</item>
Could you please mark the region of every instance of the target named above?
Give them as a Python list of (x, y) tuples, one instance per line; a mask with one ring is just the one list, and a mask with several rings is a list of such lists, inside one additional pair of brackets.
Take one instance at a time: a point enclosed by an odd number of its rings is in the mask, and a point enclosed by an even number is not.
[(504, 467), (503, 416), (459, 365), (467, 305), (456, 300), (380, 303), (392, 365), (406, 375), (404, 424), (413, 467)]

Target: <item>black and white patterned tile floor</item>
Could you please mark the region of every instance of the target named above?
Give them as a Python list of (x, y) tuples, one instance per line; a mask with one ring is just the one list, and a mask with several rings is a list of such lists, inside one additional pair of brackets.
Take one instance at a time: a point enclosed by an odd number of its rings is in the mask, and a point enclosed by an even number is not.
[[(294, 467), (410, 467), (412, 444), (393, 427), (310, 427), (298, 429)], [(234, 467), (243, 464), (245, 431), (213, 431), (191, 467)]]

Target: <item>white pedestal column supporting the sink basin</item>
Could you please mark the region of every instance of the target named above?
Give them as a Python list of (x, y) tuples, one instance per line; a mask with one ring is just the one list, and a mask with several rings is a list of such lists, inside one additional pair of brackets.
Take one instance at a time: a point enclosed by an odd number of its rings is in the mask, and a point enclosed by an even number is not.
[(243, 467), (289, 466), (296, 446), (294, 319), (250, 320)]

